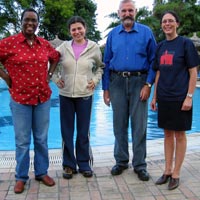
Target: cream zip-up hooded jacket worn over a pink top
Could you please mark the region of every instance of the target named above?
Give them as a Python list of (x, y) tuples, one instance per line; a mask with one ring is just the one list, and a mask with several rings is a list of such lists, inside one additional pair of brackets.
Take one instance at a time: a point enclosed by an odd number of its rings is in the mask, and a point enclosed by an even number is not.
[[(60, 95), (74, 98), (91, 96), (94, 91), (87, 88), (88, 82), (93, 80), (96, 86), (102, 78), (104, 67), (97, 43), (88, 40), (78, 60), (74, 56), (72, 40), (63, 42), (56, 50), (61, 54), (61, 79), (65, 83), (64, 88), (59, 88)], [(56, 83), (58, 76), (54, 75), (52, 80)]]

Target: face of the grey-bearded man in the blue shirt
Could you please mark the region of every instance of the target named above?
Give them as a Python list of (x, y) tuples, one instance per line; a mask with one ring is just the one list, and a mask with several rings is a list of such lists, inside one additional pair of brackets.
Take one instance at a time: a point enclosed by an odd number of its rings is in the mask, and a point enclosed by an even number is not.
[(137, 10), (133, 2), (121, 3), (118, 10), (119, 18), (121, 19), (124, 27), (132, 27)]

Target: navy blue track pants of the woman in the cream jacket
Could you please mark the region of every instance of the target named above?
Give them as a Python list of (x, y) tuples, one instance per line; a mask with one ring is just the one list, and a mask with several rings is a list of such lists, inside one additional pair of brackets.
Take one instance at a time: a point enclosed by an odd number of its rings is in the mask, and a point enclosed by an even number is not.
[[(79, 171), (91, 170), (89, 166), (89, 130), (92, 96), (69, 98), (60, 95), (59, 97), (63, 168), (67, 166), (76, 169), (78, 165)], [(75, 130), (77, 134), (74, 143)]]

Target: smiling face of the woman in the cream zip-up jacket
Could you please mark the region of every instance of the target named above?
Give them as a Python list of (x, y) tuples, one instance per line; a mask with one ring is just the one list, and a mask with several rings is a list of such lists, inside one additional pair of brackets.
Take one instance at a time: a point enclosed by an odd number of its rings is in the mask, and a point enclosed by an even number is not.
[(85, 42), (85, 33), (86, 28), (82, 23), (76, 22), (70, 25), (70, 34), (76, 43), (81, 44)]

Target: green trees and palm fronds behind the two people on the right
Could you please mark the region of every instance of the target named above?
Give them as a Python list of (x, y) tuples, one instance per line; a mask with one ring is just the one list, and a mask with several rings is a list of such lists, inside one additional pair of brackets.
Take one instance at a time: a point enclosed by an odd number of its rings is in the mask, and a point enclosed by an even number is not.
[[(136, 21), (148, 25), (159, 42), (165, 38), (160, 27), (160, 19), (167, 10), (173, 10), (179, 15), (181, 23), (178, 32), (180, 35), (192, 36), (194, 32), (200, 32), (200, 5), (196, 4), (196, 0), (185, 0), (185, 3), (182, 0), (155, 1), (153, 11), (149, 11), (146, 7), (138, 10)], [(107, 29), (120, 24), (117, 13), (111, 13), (109, 17), (113, 20)]]

